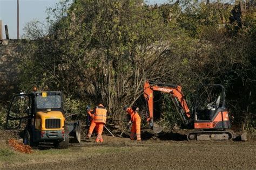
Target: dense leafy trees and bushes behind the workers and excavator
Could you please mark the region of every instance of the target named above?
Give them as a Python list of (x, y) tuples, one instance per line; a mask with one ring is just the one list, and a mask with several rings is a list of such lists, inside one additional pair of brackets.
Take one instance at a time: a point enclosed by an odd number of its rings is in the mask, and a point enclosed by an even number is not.
[[(234, 5), (220, 2), (68, 2), (48, 10), (47, 33), (35, 23), (26, 27), (26, 37), (36, 41), (24, 47), (21, 89), (62, 90), (67, 114), (82, 117), (85, 105), (102, 98), (109, 116), (122, 119), (123, 105), (141, 104), (145, 80), (181, 84), (190, 107), (199, 84), (221, 83), (235, 121), (253, 118), (246, 100), (249, 91), (255, 98), (256, 78), (250, 6), (237, 27)], [(170, 100), (164, 101), (174, 124)]]

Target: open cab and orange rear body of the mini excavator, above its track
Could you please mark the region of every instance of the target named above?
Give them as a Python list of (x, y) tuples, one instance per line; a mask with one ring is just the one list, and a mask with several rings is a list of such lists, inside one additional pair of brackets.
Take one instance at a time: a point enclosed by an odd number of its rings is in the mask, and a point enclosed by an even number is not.
[(225, 88), (221, 84), (198, 87), (194, 102), (195, 129), (228, 129), (230, 121), (225, 104)]

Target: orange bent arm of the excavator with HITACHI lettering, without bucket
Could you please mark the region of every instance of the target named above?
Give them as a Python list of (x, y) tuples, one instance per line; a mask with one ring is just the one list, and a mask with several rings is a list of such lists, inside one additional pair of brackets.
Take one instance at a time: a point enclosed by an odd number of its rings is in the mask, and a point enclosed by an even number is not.
[(163, 93), (171, 94), (172, 101), (176, 106), (183, 123), (185, 125), (189, 124), (190, 109), (188, 109), (184, 94), (181, 91), (181, 87), (175, 84), (146, 81), (144, 84), (144, 97), (147, 101), (150, 114), (147, 115), (147, 122), (150, 123), (151, 127), (153, 126), (153, 91), (161, 91)]

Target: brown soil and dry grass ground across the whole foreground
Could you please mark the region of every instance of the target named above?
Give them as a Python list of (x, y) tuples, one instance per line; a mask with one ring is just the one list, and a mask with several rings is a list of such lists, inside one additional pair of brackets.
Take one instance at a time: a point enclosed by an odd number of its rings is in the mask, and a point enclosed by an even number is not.
[(0, 169), (256, 169), (253, 139), (185, 141), (174, 133), (142, 137), (138, 142), (103, 136), (101, 144), (92, 138), (65, 150), (35, 149), (32, 154), (13, 151), (2, 138)]

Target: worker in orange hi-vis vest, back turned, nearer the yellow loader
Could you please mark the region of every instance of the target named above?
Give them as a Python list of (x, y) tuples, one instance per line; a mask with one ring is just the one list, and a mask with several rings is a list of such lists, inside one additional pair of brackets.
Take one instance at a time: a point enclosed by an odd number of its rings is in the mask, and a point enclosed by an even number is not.
[(96, 127), (96, 130), (97, 130), (96, 142), (97, 143), (99, 141), (103, 142), (102, 132), (103, 132), (104, 125), (106, 124), (107, 110), (104, 108), (102, 101), (98, 101), (97, 106), (93, 110), (87, 109), (86, 111), (87, 111), (87, 114), (89, 114), (91, 117), (91, 125), (89, 128), (89, 132), (86, 136), (86, 139), (91, 138), (92, 132)]

